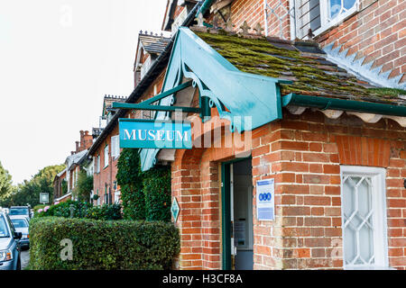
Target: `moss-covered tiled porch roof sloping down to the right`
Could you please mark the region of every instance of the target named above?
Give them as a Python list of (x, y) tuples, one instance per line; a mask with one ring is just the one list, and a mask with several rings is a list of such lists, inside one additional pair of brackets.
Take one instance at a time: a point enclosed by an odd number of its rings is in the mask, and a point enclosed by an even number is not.
[(406, 105), (406, 91), (369, 85), (326, 60), (314, 42), (241, 37), (226, 31), (195, 31), (202, 40), (243, 72), (291, 80), (281, 94), (311, 94)]

